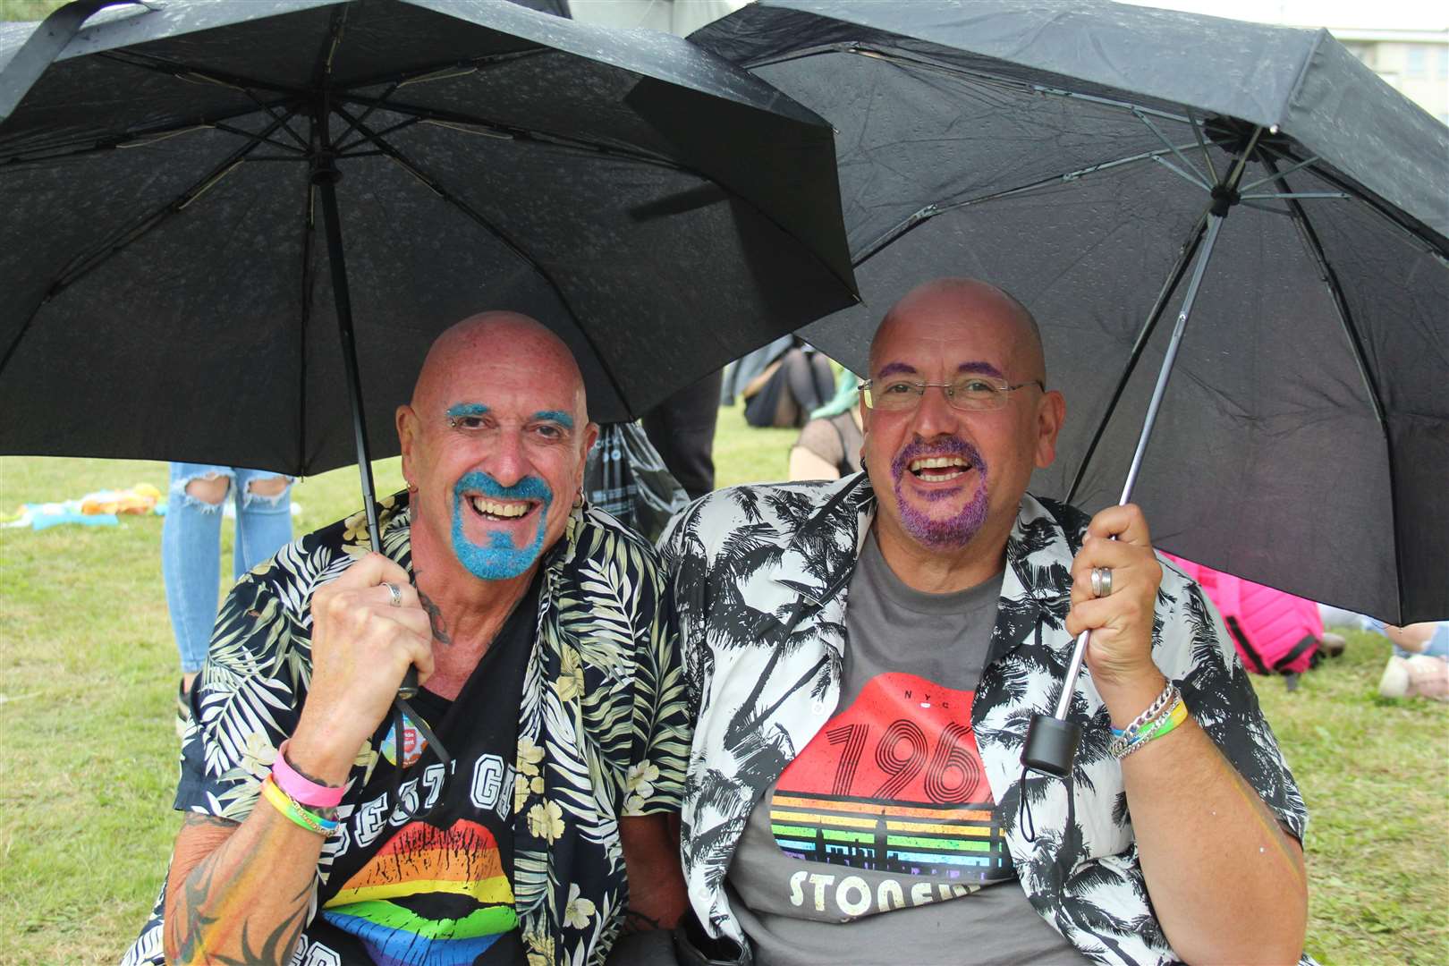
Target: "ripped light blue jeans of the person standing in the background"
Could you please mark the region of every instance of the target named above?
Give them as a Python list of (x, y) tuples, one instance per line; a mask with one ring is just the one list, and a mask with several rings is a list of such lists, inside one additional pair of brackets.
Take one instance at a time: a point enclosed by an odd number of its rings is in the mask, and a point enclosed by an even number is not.
[[(278, 475), (270, 469), (171, 463), (171, 492), (161, 526), (161, 576), (167, 584), (167, 608), (183, 673), (201, 669), (212, 642), (220, 581), (222, 507), (226, 501), (236, 504), (233, 579), (291, 542), (291, 478), (284, 476), (287, 488), (274, 497), (252, 492), (252, 484)], [(187, 492), (191, 481), (223, 478), (227, 488), (217, 503)]]

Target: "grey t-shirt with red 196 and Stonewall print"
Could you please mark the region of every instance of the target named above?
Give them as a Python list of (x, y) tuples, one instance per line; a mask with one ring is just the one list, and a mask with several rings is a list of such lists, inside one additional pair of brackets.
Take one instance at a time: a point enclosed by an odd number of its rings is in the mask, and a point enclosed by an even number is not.
[(911, 589), (867, 540), (839, 710), (765, 789), (729, 870), (762, 966), (1084, 962), (1016, 883), (971, 731), (1000, 591), (1001, 575)]

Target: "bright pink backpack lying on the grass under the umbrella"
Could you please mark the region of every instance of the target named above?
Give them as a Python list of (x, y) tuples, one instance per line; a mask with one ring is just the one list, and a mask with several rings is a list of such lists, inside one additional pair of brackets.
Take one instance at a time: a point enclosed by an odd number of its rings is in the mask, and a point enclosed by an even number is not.
[(1164, 553), (1217, 605), (1243, 666), (1261, 675), (1303, 673), (1323, 637), (1319, 605), (1232, 574)]

